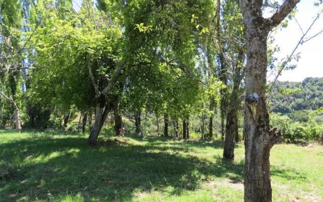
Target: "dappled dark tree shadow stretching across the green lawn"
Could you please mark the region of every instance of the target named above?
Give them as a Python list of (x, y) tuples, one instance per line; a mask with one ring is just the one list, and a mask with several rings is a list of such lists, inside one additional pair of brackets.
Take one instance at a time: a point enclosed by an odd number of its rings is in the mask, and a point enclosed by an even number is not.
[[(80, 195), (80, 201), (128, 201), (140, 192), (181, 195), (214, 177), (243, 180), (243, 162), (186, 154), (195, 148), (221, 149), (221, 141), (104, 137), (91, 147), (84, 135), (30, 134), (0, 143), (0, 170), (8, 171), (0, 179), (0, 201), (60, 201), (68, 195)], [(279, 175), (275, 170), (273, 174)]]

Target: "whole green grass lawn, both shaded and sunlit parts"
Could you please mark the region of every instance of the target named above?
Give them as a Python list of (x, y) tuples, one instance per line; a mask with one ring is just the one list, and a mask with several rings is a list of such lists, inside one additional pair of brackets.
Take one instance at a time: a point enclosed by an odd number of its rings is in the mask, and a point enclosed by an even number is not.
[[(243, 144), (0, 129), (0, 201), (242, 201)], [(323, 146), (271, 152), (273, 201), (323, 201)]]

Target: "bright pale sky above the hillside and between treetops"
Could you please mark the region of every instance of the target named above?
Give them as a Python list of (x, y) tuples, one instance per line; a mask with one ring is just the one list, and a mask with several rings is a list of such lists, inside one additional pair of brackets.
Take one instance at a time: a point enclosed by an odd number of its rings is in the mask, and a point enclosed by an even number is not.
[[(282, 0), (279, 0), (282, 2)], [(314, 17), (323, 6), (314, 7), (314, 2), (317, 0), (301, 0), (297, 5), (297, 12), (295, 18), (302, 27), (303, 31), (307, 30), (313, 22)], [(78, 11), (82, 0), (72, 0), (73, 8)], [(323, 13), (318, 21), (315, 22), (312, 29), (308, 32), (307, 36), (312, 36), (323, 29)], [(281, 52), (275, 56), (278, 61), (281, 61), (287, 55), (290, 55), (296, 47), (302, 32), (293, 19), (288, 23), (287, 28), (278, 30), (275, 34), (275, 44), (280, 47)], [(323, 34), (299, 45), (295, 53), (301, 53), (301, 58), (298, 62), (292, 62), (297, 67), (294, 70), (283, 71), (282, 75), (278, 78), (280, 81), (302, 81), (306, 77), (323, 77)], [(268, 77), (272, 79), (273, 77)]]

